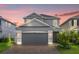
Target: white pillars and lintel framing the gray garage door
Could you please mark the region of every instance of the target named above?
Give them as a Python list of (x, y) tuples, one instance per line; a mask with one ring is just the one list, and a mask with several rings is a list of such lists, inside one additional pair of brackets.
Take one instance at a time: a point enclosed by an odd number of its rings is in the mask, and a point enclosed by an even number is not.
[(48, 33), (48, 44), (53, 44), (53, 32), (52, 31), (17, 31), (16, 43), (22, 44), (22, 33)]

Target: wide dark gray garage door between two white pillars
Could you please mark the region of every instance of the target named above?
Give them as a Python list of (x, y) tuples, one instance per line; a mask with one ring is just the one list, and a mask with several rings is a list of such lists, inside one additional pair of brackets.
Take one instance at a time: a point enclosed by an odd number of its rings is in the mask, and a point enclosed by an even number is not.
[(23, 45), (46, 45), (48, 44), (48, 33), (23, 33)]

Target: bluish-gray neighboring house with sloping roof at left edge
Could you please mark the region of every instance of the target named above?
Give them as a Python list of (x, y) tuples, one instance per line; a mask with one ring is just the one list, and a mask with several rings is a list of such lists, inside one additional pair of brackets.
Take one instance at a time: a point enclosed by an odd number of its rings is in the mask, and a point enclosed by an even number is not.
[(0, 16), (0, 38), (11, 36), (15, 38), (16, 25)]

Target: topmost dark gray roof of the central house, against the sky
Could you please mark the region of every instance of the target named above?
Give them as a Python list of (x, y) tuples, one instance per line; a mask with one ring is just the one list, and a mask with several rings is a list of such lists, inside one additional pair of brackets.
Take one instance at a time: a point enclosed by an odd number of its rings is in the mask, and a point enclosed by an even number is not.
[(32, 19), (32, 18), (37, 18), (37, 19), (45, 19), (45, 20), (53, 20), (53, 19), (59, 19), (56, 16), (50, 16), (50, 15), (45, 15), (45, 14), (37, 14), (37, 13), (32, 13), (26, 17), (24, 17), (24, 19)]

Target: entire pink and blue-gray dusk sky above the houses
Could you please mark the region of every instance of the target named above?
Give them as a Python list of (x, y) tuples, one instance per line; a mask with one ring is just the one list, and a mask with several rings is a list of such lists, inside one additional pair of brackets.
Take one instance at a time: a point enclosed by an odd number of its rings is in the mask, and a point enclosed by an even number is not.
[[(79, 15), (79, 5), (64, 5), (64, 4), (0, 4), (0, 16), (8, 19), (11, 22), (16, 22), (18, 25), (23, 23), (23, 17), (31, 14), (46, 14), (59, 15), (60, 24), (67, 18), (74, 15)], [(63, 14), (66, 15), (63, 15)], [(61, 15), (61, 16), (60, 16)]]

